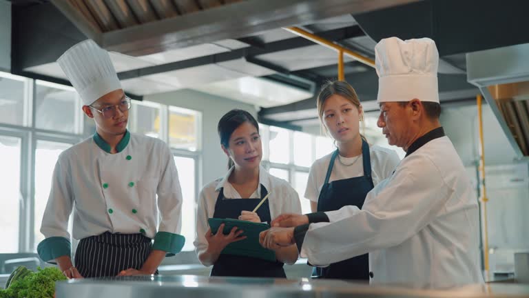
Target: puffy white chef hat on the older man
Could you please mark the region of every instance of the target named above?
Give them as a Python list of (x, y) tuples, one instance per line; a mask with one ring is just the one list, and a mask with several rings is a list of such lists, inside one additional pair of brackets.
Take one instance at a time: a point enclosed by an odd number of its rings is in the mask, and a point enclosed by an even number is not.
[(375, 46), (377, 103), (412, 99), (439, 103), (438, 66), (439, 52), (431, 39), (382, 39)]

